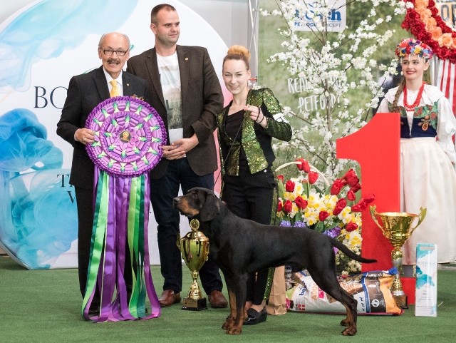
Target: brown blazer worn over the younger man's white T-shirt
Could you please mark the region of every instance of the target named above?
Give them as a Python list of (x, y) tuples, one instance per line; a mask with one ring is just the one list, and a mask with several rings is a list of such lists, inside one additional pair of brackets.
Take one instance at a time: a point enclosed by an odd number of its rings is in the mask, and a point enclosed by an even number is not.
[[(187, 159), (197, 175), (207, 175), (217, 170), (217, 150), (213, 133), (216, 128), (215, 116), (223, 107), (222, 88), (206, 48), (177, 46), (177, 58), (184, 138), (190, 138), (196, 133), (199, 141), (199, 144), (187, 153)], [(145, 101), (160, 114), (168, 130), (155, 48), (131, 57), (127, 63), (127, 71), (145, 78), (149, 93)], [(150, 172), (151, 178), (161, 178), (166, 172), (167, 164), (168, 161), (162, 159)]]

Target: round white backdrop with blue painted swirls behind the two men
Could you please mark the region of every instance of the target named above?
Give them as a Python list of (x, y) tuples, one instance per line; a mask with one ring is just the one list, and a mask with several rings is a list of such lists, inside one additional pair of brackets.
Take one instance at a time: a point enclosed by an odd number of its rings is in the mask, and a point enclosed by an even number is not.
[[(206, 47), (221, 78), (227, 45), (183, 2), (167, 1), (180, 15), (179, 43)], [(24, 267), (77, 267), (73, 148), (56, 134), (68, 82), (101, 65), (98, 41), (106, 32), (127, 34), (130, 56), (151, 48), (150, 10), (160, 3), (30, 0), (15, 13), (0, 9), (7, 18), (0, 23), (0, 249)], [(75, 22), (84, 24), (75, 30)], [(150, 219), (151, 263), (158, 264)], [(181, 223), (185, 234), (187, 220)]]

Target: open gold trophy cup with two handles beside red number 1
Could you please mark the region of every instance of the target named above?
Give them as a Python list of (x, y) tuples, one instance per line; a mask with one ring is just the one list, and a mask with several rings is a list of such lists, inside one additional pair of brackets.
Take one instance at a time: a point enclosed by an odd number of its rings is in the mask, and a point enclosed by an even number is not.
[[(375, 205), (371, 206), (371, 216), (375, 224), (380, 227), (383, 232), (383, 236), (390, 240), (393, 245), (393, 251), (391, 251), (391, 259), (393, 260), (393, 266), (398, 268), (391, 287), (391, 293), (393, 294), (394, 300), (399, 307), (408, 308), (407, 295), (400, 282), (400, 274), (402, 272), (402, 251), (401, 247), (404, 245), (408, 237), (412, 235), (412, 232), (423, 222), (426, 216), (426, 208), (420, 208), (420, 214), (415, 215), (413, 213), (405, 212), (383, 212), (377, 213)], [(380, 216), (383, 226), (380, 226), (376, 216)], [(412, 227), (413, 220), (418, 217), (418, 224)]]

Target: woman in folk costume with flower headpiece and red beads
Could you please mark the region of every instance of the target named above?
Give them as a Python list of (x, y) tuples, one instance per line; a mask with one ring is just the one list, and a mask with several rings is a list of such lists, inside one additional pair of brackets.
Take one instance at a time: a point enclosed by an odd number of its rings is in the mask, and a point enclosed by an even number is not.
[(435, 243), (439, 263), (456, 260), (456, 120), (445, 95), (423, 81), (429, 46), (404, 39), (395, 54), (403, 80), (386, 93), (379, 112), (400, 113), (400, 210), (418, 214), (427, 208), (403, 246), (404, 273), (412, 276), (408, 265), (416, 263), (417, 243)]

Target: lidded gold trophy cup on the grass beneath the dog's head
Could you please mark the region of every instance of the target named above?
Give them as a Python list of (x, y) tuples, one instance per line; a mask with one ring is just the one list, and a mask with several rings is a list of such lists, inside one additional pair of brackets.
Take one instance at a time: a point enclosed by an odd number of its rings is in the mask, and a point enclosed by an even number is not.
[(197, 283), (199, 270), (204, 262), (207, 261), (209, 255), (209, 238), (204, 236), (199, 229), (199, 221), (197, 219), (190, 220), (190, 228), (192, 231), (180, 238), (177, 235), (177, 247), (185, 261), (185, 264), (192, 272), (192, 285), (186, 298), (182, 300), (182, 309), (190, 309), (199, 311), (207, 309), (206, 298), (202, 296)]

